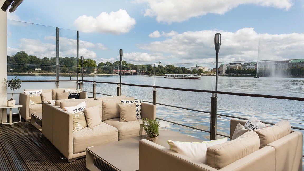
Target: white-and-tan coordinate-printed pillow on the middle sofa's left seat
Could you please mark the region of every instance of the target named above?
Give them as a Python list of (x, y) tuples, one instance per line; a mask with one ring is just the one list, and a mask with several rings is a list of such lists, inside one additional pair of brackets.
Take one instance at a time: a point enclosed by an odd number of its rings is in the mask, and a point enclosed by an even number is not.
[(87, 121), (85, 119), (85, 108), (85, 102), (81, 102), (76, 106), (64, 107), (67, 112), (74, 115), (73, 131), (78, 131), (87, 127)]

